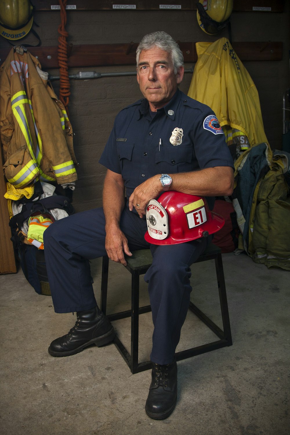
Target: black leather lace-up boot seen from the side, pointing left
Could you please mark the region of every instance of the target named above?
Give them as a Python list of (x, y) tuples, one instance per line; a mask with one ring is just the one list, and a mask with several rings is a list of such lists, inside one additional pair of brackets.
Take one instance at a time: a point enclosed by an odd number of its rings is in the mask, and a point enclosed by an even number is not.
[(48, 352), (52, 356), (69, 356), (95, 344), (103, 346), (113, 340), (113, 326), (98, 307), (77, 312), (77, 321), (67, 335), (50, 343)]

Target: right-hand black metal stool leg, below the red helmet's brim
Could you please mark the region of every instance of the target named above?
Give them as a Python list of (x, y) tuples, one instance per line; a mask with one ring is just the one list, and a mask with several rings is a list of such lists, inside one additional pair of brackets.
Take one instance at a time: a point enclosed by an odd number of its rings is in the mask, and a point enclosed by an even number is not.
[(220, 309), (221, 309), (221, 315), (223, 319), (223, 332), (228, 343), (227, 345), (231, 346), (233, 342), (232, 342), (232, 335), (230, 331), (230, 317), (229, 317), (229, 310), (227, 306), (227, 293), (226, 293), (226, 284), (224, 282), (222, 255), (217, 254), (217, 257), (215, 258), (214, 261), (216, 265), (217, 284), (218, 284), (219, 295), (220, 295)]

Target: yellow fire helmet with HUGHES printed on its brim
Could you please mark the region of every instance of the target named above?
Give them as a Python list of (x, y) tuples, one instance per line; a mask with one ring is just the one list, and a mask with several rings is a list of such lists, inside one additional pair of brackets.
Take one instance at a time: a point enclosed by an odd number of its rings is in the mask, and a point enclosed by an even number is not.
[(2, 0), (0, 2), (0, 35), (17, 41), (30, 31), (33, 6), (30, 0)]

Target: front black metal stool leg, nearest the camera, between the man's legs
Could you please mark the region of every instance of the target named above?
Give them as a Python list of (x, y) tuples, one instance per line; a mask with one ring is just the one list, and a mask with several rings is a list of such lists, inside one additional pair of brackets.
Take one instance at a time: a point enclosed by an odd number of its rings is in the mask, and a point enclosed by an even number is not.
[(131, 372), (138, 371), (139, 346), (139, 274), (132, 271), (131, 285)]

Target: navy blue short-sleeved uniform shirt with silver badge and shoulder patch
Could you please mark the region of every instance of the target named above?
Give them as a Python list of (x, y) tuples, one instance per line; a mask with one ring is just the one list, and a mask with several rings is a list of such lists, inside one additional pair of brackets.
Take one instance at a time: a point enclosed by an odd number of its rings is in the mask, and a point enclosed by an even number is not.
[(180, 90), (153, 118), (146, 99), (121, 110), (99, 163), (122, 174), (127, 198), (156, 174), (234, 168), (216, 115)]

